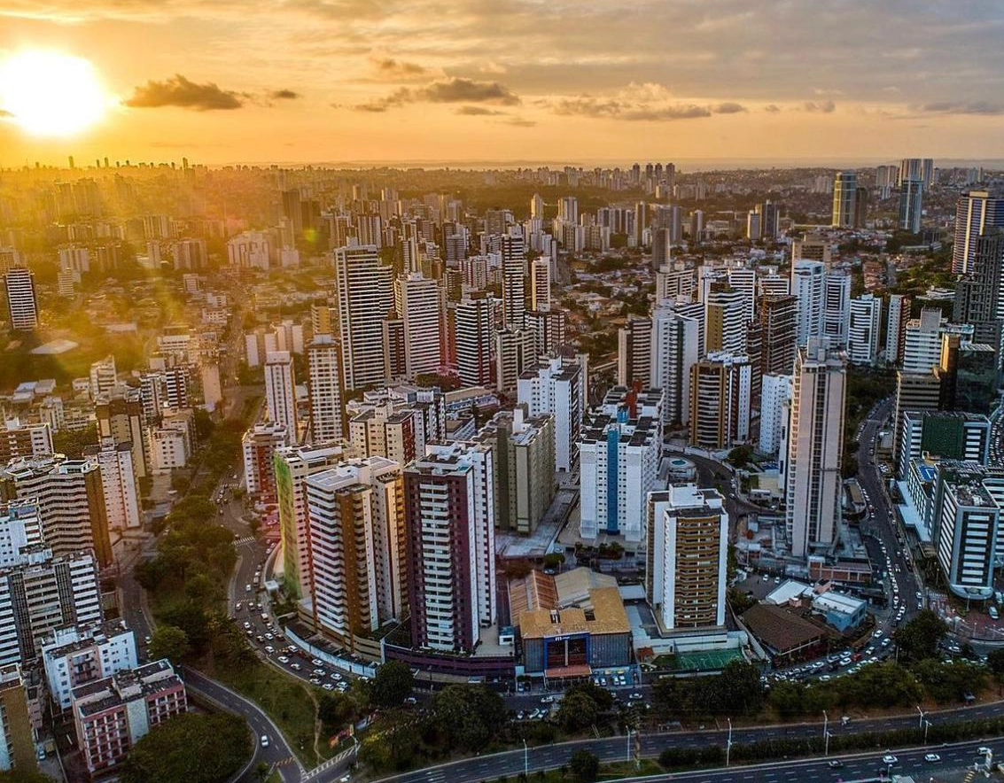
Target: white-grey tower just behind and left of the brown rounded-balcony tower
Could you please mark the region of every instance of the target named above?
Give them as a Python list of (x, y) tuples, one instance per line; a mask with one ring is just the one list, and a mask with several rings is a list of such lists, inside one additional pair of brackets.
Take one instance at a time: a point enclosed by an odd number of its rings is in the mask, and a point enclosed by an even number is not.
[(685, 427), (690, 422), (691, 367), (703, 353), (700, 331), (696, 319), (669, 303), (653, 310), (649, 379), (666, 395), (664, 425)]

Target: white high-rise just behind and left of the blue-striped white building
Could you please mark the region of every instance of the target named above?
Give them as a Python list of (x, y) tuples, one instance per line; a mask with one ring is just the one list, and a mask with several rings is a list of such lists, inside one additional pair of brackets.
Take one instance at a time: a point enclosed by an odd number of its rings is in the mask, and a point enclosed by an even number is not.
[(531, 417), (554, 417), (554, 466), (571, 471), (577, 460), (575, 443), (587, 405), (588, 367), (584, 355), (541, 357), (519, 376), (517, 401)]

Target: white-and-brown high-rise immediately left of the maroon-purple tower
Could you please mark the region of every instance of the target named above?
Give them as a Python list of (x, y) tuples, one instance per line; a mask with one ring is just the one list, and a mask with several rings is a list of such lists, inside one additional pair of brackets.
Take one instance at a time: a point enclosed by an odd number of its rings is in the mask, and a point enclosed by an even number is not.
[(405, 615), (406, 539), (401, 466), (350, 460), (306, 478), (314, 624), (350, 649)]

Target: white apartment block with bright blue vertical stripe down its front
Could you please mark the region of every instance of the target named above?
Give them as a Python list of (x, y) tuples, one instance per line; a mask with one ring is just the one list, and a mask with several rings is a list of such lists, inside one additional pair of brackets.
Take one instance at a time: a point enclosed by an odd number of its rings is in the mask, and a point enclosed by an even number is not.
[(604, 532), (630, 543), (644, 540), (646, 497), (655, 487), (662, 448), (662, 406), (661, 389), (614, 387), (600, 412), (586, 418), (578, 440), (582, 538)]

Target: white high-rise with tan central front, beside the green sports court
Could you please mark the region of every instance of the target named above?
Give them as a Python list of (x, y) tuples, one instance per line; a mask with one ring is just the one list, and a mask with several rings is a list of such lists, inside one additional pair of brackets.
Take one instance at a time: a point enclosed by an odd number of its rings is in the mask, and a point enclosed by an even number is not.
[(672, 486), (648, 496), (645, 591), (664, 630), (723, 627), (729, 514), (715, 489)]

